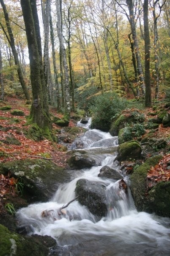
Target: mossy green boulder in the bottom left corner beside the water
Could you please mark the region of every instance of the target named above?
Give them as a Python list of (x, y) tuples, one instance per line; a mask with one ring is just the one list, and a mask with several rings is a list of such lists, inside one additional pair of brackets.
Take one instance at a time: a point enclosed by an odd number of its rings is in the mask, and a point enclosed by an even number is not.
[(49, 247), (55, 245), (55, 240), (50, 237), (22, 237), (0, 225), (0, 256), (47, 256)]

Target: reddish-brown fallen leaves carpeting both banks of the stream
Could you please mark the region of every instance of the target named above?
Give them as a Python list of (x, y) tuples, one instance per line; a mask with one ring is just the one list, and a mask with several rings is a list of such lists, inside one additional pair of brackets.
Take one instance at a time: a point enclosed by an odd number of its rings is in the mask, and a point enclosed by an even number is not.
[[(10, 110), (0, 110), (0, 163), (5, 161), (13, 161), (16, 159), (22, 160), (26, 158), (45, 158), (54, 161), (60, 167), (67, 168), (68, 155), (66, 152), (60, 151), (60, 144), (51, 142), (47, 139), (41, 141), (34, 141), (28, 139), (24, 134), (24, 129), (28, 129), (26, 117), (30, 113), (30, 105), (25, 104), (25, 100), (18, 97), (5, 97), (3, 102), (0, 102), (0, 107), (11, 106)], [(14, 116), (11, 111), (14, 109), (22, 110), (25, 116)], [(63, 115), (57, 113), (56, 109), (51, 108), (50, 112), (56, 117), (62, 117)], [(146, 118), (151, 118), (148, 113), (152, 113), (152, 108), (142, 110)], [(70, 127), (74, 127), (74, 122), (69, 122)], [(61, 127), (53, 124), (53, 129), (61, 129)], [(146, 131), (147, 132), (147, 131)], [(57, 135), (57, 134), (56, 134)], [(18, 140), (19, 145), (12, 145), (8, 143), (8, 137), (12, 136)], [(154, 138), (168, 138), (170, 136), (170, 127), (164, 128), (162, 124), (156, 129)], [(168, 142), (168, 147), (170, 142)], [(158, 152), (159, 153), (159, 152)], [(170, 181), (170, 170), (167, 170), (167, 164), (170, 163), (170, 152), (160, 152), (163, 156), (162, 160), (155, 166), (151, 167), (148, 172), (148, 178), (158, 181)], [(149, 157), (149, 156), (148, 156)], [(3, 189), (4, 184), (8, 184), (11, 187), (16, 181), (0, 174), (0, 192)], [(7, 188), (6, 188), (7, 189)], [(9, 193), (9, 189), (6, 192)], [(1, 195), (0, 193), (0, 196)]]

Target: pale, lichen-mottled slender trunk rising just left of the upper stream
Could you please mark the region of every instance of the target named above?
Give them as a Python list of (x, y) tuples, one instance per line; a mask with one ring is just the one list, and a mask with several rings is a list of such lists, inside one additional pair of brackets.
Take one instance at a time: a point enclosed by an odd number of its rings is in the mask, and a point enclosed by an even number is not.
[(61, 53), (63, 58), (63, 70), (64, 70), (64, 87), (65, 87), (65, 111), (70, 114), (70, 94), (69, 94), (69, 68), (66, 60), (66, 49), (64, 47), (63, 35), (61, 30), (61, 14), (60, 14), (60, 0), (56, 0), (56, 11), (57, 11), (57, 32), (58, 39), (60, 42)]

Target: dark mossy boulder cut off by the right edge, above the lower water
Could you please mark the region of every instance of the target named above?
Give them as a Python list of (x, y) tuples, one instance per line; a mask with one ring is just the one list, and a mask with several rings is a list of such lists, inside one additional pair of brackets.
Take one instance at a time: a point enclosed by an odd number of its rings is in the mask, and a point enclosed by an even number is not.
[(147, 207), (151, 213), (170, 217), (170, 181), (161, 181), (148, 192)]

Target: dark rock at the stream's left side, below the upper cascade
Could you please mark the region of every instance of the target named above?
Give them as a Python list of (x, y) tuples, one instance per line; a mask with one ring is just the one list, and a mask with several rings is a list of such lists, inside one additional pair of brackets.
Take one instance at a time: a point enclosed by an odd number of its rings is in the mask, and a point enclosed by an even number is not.
[(71, 169), (82, 169), (89, 168), (92, 166), (98, 166), (99, 163), (96, 162), (92, 157), (82, 154), (80, 152), (75, 152), (68, 160), (67, 160)]

